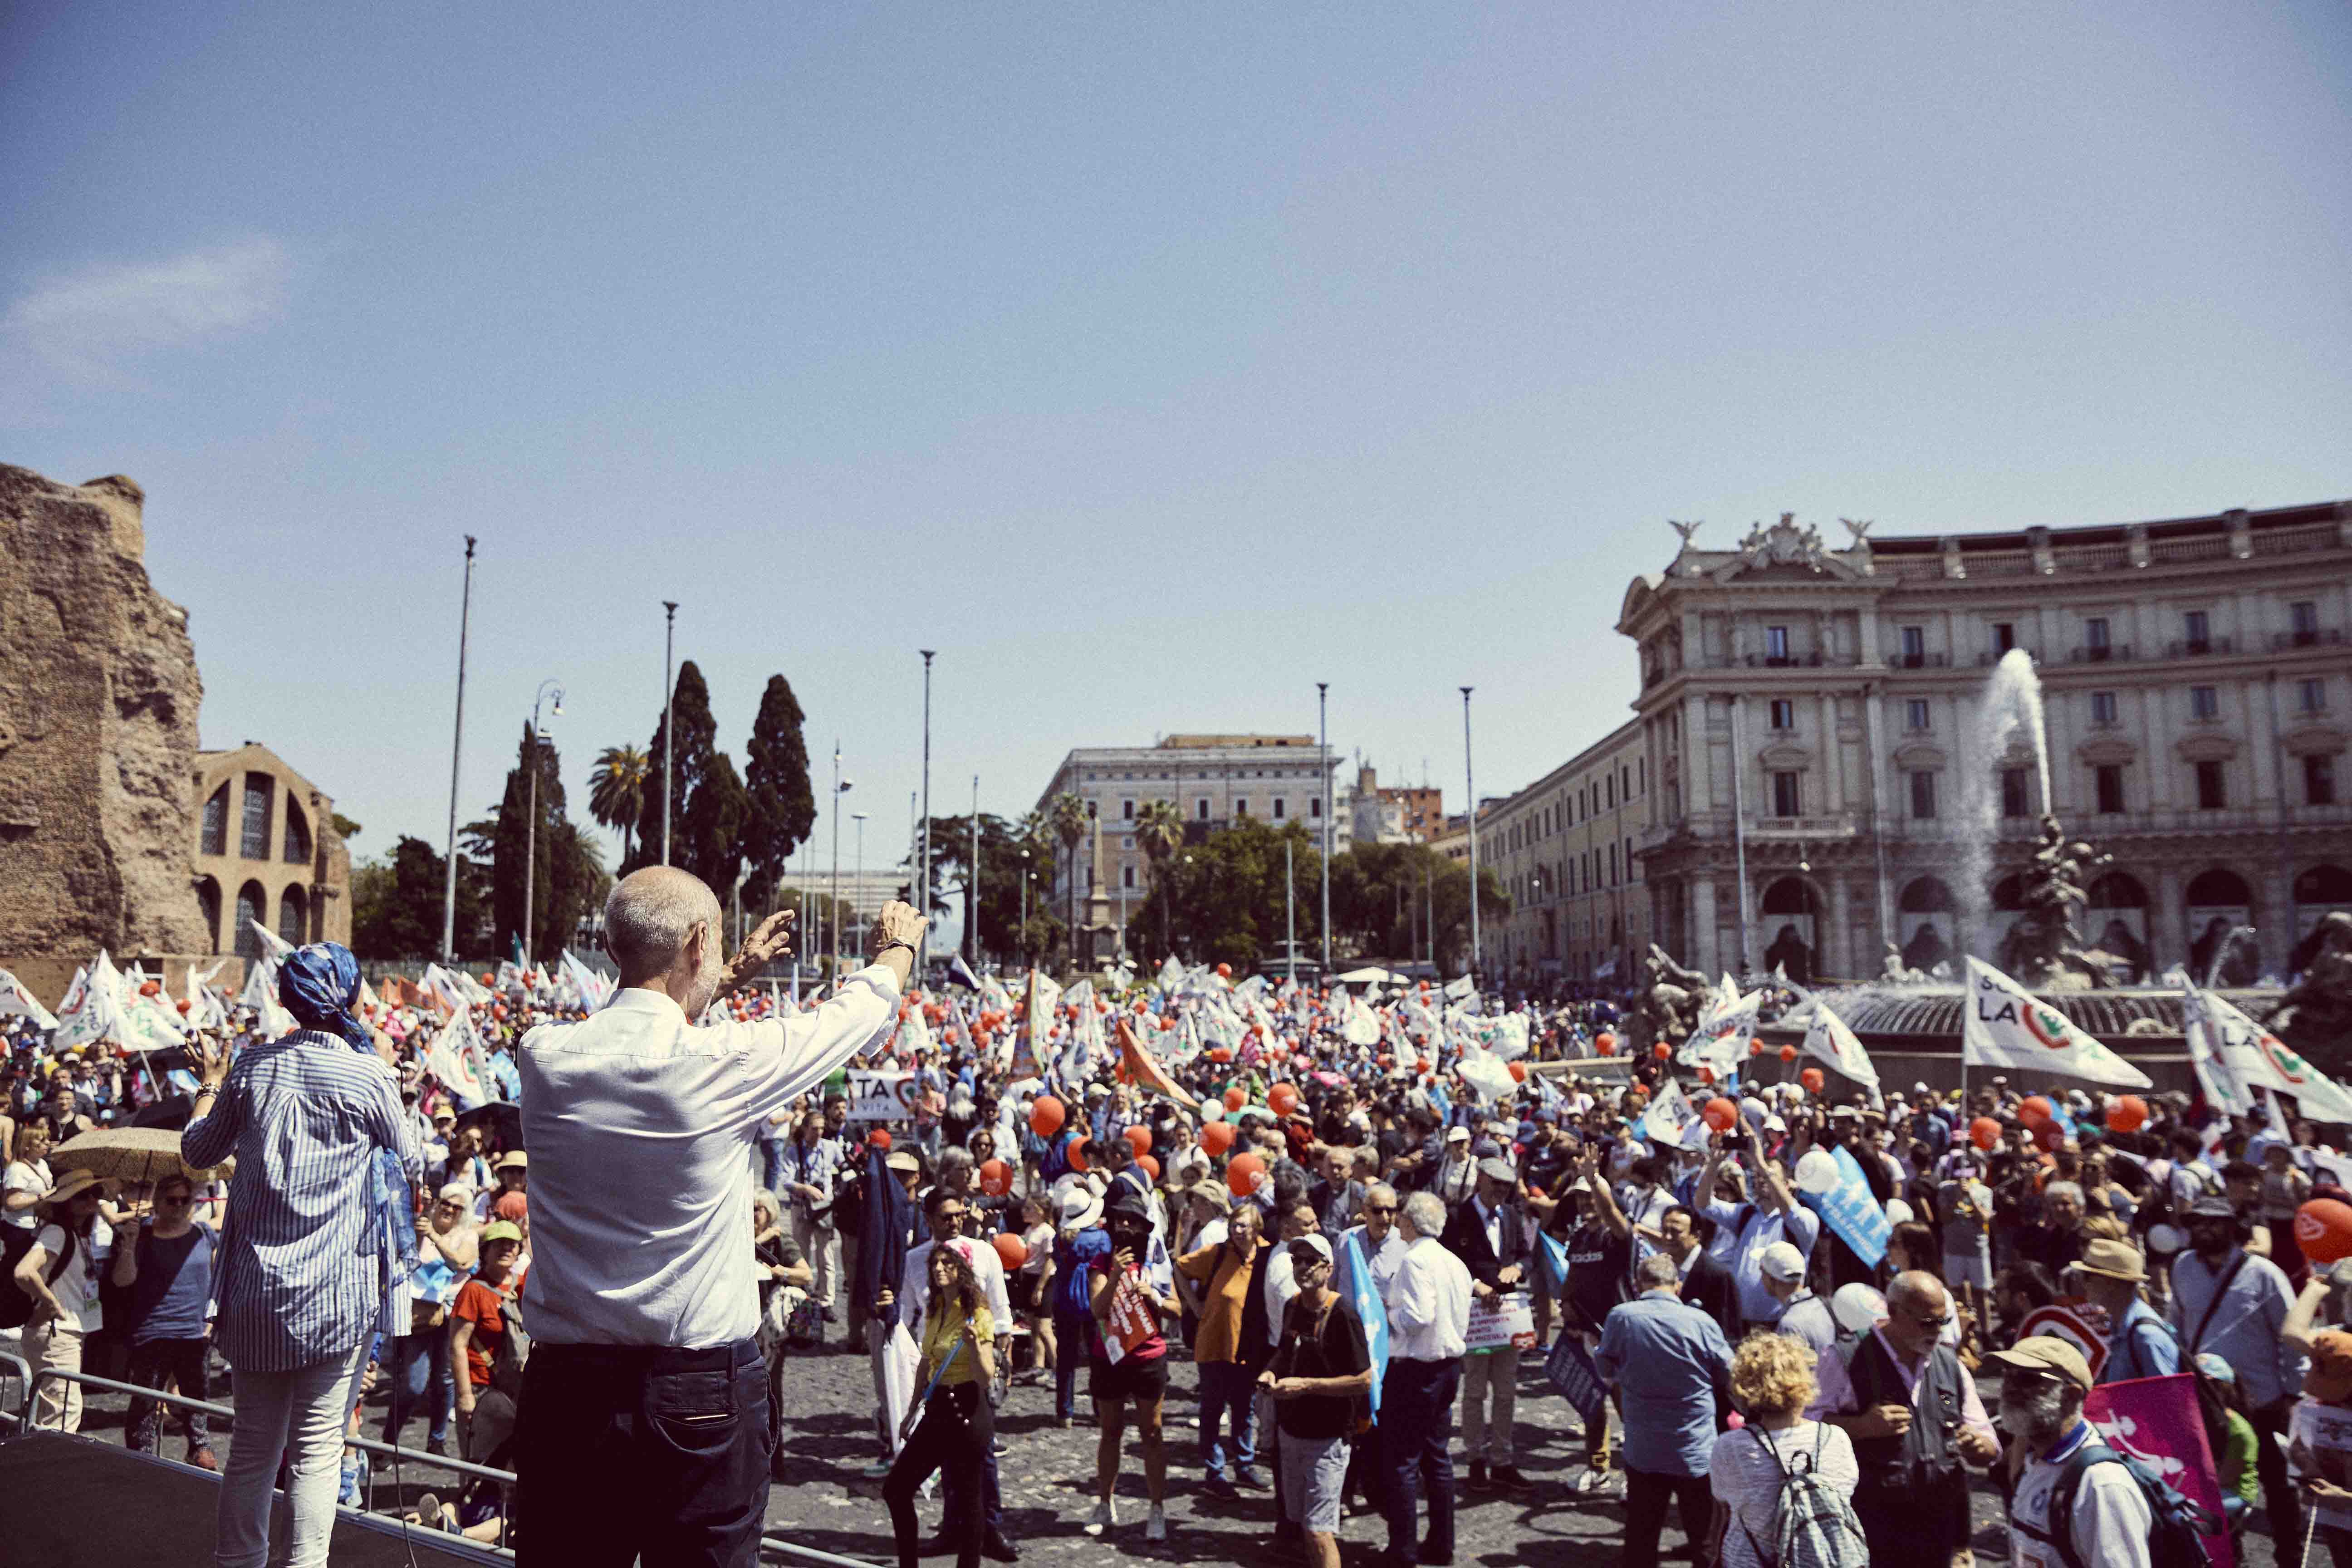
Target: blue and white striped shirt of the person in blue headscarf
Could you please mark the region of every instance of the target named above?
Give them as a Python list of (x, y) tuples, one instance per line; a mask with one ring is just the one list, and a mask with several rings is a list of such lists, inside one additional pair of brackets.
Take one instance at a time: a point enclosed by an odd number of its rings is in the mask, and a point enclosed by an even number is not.
[(212, 1114), (179, 1135), (191, 1166), (238, 1157), (214, 1276), (230, 1366), (287, 1373), (374, 1331), (388, 1286), (372, 1211), (379, 1147), (409, 1182), (423, 1175), (393, 1070), (313, 1030), (245, 1046)]

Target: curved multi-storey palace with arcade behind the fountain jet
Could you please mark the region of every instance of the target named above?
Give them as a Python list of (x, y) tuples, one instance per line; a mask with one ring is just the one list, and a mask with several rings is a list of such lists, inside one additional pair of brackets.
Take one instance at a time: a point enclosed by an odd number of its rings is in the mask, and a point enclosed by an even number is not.
[[(1872, 538), (1783, 515), (1628, 588), (1632, 832), (1700, 971), (1870, 976), (1994, 954), (2042, 811), (2112, 856), (2084, 936), (2136, 973), (2256, 926), (2267, 973), (2352, 907), (2352, 501)], [(2044, 759), (1987, 726), (2009, 649)], [(2253, 976), (2241, 976), (2251, 980)]]

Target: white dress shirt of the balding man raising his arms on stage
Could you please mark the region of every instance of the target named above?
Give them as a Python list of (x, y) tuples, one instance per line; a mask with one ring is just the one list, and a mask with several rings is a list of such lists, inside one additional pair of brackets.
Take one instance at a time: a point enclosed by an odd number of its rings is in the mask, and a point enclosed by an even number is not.
[(628, 987), (522, 1037), (532, 1253), (548, 1345), (710, 1349), (760, 1328), (750, 1145), (793, 1095), (889, 1037), (898, 983), (873, 964), (823, 1006), (694, 1025)]

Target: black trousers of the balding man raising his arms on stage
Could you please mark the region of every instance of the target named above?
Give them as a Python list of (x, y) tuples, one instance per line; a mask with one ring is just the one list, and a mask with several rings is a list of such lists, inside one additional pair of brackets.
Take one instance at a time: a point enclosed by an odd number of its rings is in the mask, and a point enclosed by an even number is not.
[(755, 1568), (771, 1441), (757, 1340), (534, 1345), (515, 1425), (517, 1561)]

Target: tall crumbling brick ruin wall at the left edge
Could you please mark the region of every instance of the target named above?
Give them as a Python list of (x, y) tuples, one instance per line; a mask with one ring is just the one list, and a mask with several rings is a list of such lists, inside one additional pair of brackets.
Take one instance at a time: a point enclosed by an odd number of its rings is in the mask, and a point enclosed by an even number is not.
[(205, 686), (148, 581), (146, 496), (0, 465), (0, 969), (56, 1004), (99, 947), (202, 952), (188, 764)]

